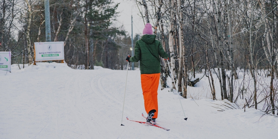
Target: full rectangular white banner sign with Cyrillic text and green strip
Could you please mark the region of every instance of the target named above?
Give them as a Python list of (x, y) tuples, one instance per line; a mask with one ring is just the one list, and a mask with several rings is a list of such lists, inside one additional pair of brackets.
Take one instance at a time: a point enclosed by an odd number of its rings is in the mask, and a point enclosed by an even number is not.
[(64, 60), (64, 42), (35, 42), (35, 61)]

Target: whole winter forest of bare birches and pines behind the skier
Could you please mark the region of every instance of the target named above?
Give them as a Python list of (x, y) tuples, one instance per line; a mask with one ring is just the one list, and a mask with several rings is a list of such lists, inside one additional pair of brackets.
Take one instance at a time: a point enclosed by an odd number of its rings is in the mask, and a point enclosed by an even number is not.
[[(69, 67), (127, 69), (132, 36), (113, 24), (118, 4), (49, 0), (51, 41), (64, 42)], [(170, 67), (161, 58), (162, 87), (187, 98), (188, 86), (207, 78), (211, 99), (240, 100), (242, 108), (278, 115), (277, 0), (135, 0), (135, 4), (170, 56)], [(0, 51), (12, 52), (12, 64), (31, 65), (34, 42), (46, 41), (44, 23), (44, 1), (1, 0)], [(134, 44), (141, 35), (133, 36)]]

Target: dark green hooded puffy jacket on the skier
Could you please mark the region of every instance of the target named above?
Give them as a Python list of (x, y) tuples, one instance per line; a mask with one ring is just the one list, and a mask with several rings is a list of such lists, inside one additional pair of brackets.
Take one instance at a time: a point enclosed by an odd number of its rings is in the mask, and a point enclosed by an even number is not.
[(160, 73), (160, 57), (167, 59), (169, 56), (163, 50), (160, 41), (155, 40), (156, 35), (145, 34), (135, 44), (135, 55), (130, 57), (130, 62), (140, 60), (141, 74)]

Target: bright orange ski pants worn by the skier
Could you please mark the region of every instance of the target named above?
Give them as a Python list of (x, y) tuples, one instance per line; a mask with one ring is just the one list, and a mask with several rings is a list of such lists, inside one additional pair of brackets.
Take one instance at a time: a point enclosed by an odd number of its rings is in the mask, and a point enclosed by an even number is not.
[(156, 110), (153, 118), (157, 118), (157, 89), (159, 85), (160, 73), (157, 74), (141, 74), (141, 86), (144, 96), (145, 110), (149, 113), (151, 110)]

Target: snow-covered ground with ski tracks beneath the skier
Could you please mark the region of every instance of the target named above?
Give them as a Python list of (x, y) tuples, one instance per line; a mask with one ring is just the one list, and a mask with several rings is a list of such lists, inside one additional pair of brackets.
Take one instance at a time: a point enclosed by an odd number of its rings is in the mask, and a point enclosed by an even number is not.
[[(177, 93), (169, 88), (158, 89), (157, 118), (169, 131), (128, 121), (126, 116), (145, 121), (139, 70), (128, 71), (125, 126), (120, 126), (126, 70), (95, 69), (74, 70), (63, 63), (44, 62), (21, 70), (12, 65), (11, 73), (0, 71), (0, 138), (262, 139), (278, 135), (278, 118), (274, 116), (205, 99), (210, 96), (206, 77), (197, 87), (188, 88), (195, 101), (189, 93), (188, 99), (180, 96), (187, 121)], [(219, 98), (218, 82), (215, 87)]]

